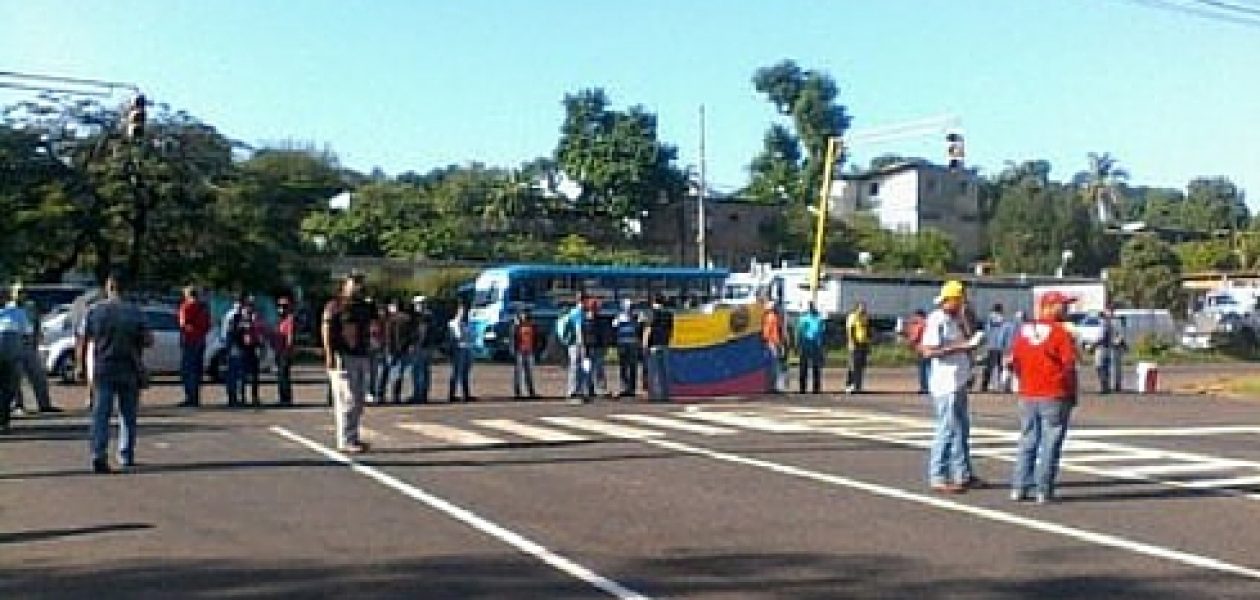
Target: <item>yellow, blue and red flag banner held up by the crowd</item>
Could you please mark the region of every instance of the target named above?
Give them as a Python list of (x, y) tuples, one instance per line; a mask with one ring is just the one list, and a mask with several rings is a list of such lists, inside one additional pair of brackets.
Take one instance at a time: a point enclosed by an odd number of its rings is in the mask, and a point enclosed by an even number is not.
[(772, 359), (761, 340), (757, 306), (718, 306), (674, 318), (670, 395), (712, 397), (771, 391)]

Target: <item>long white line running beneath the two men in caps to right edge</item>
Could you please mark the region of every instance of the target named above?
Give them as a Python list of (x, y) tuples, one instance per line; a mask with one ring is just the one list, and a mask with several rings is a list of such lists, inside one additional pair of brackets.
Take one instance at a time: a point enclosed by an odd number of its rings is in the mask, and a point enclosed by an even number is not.
[(772, 463), (769, 460), (755, 459), (751, 456), (742, 456), (738, 454), (723, 453), (718, 450), (711, 450), (708, 447), (694, 446), (690, 444), (682, 444), (673, 440), (643, 440), (644, 444), (651, 444), (658, 447), (667, 450), (673, 450), (680, 454), (690, 454), (694, 456), (704, 456), (713, 460), (721, 460), (724, 463), (733, 463), (745, 466), (753, 466), (757, 469), (769, 470), (772, 473), (779, 473), (782, 475), (789, 475), (800, 479), (808, 479), (813, 482), (820, 482), (830, 485), (837, 485), (840, 488), (849, 488), (861, 492), (866, 492), (874, 495), (881, 495), (885, 498), (893, 498), (898, 500), (912, 502), (917, 504), (929, 505), (932, 508), (941, 508), (945, 511), (953, 511), (956, 513), (970, 514), (973, 517), (979, 517), (983, 519), (1007, 523), (1017, 527), (1023, 527), (1026, 529), (1040, 531), (1045, 533), (1052, 533), (1056, 536), (1062, 536), (1082, 542), (1094, 543), (1097, 546), (1106, 546), (1111, 548), (1125, 550), (1138, 555), (1152, 556), (1155, 558), (1163, 558), (1172, 562), (1179, 562), (1183, 565), (1189, 565), (1200, 568), (1207, 568), (1212, 571), (1227, 572), (1231, 575), (1239, 575), (1247, 579), (1260, 580), (1260, 570), (1250, 568), (1240, 565), (1234, 565), (1225, 562), (1218, 558), (1212, 558), (1210, 556), (1194, 555), (1176, 548), (1167, 548), (1162, 546), (1155, 546), (1145, 542), (1138, 542), (1134, 539), (1123, 538), (1119, 536), (1113, 536), (1110, 533), (1100, 533), (1089, 529), (1081, 529), (1077, 527), (1063, 526), (1058, 523), (1052, 523), (1048, 521), (1038, 521), (1028, 517), (1022, 517), (1013, 513), (1007, 513), (1002, 511), (995, 511), (992, 508), (974, 507), (970, 504), (963, 504), (954, 500), (946, 500), (944, 498), (935, 498), (930, 495), (916, 494), (914, 492), (906, 492), (903, 489), (892, 488), (888, 485), (879, 485), (874, 483), (862, 482), (858, 479), (850, 479), (840, 475), (832, 475), (829, 473), (820, 473), (809, 469), (803, 469), (799, 466), (785, 465), (781, 463)]

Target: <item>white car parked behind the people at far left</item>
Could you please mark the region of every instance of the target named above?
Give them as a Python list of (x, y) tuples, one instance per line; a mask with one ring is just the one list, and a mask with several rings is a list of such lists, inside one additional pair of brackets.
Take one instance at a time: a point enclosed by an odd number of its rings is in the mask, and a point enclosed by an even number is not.
[[(145, 324), (154, 334), (154, 345), (145, 349), (145, 369), (150, 373), (178, 373), (180, 368), (179, 319), (175, 309), (165, 305), (146, 305), (140, 308)], [(60, 378), (62, 382), (74, 381), (74, 325), (71, 310), (53, 311), (43, 321), (43, 343), (39, 347), (44, 369)], [(210, 378), (219, 381), (226, 367), (224, 347), (218, 332), (210, 332), (207, 339), (205, 362), (203, 368)], [(263, 347), (262, 369), (275, 368), (275, 357)]]

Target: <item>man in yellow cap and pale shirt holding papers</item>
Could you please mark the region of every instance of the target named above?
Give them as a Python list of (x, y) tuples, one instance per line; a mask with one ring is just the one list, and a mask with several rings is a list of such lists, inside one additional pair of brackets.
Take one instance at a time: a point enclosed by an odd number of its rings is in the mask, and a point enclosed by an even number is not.
[(936, 296), (936, 309), (927, 315), (920, 340), (920, 352), (931, 361), (927, 392), (936, 415), (927, 480), (934, 490), (951, 494), (961, 494), (979, 482), (971, 470), (966, 406), (971, 352), (979, 340), (966, 338), (965, 306), (963, 284), (946, 281)]

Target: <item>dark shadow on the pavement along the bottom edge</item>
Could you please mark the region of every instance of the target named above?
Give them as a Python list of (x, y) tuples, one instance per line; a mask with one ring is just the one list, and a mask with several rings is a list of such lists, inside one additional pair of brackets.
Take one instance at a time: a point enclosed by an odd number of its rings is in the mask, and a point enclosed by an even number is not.
[[(708, 553), (656, 558), (597, 557), (602, 575), (653, 597), (1179, 600), (1246, 597), (1220, 576), (954, 577), (895, 555)], [(4, 597), (610, 597), (532, 558), (440, 556), (369, 562), (136, 561), (89, 568), (4, 568)], [(341, 560), (343, 562), (336, 562)], [(346, 563), (344, 561), (360, 562)], [(1231, 590), (1230, 587), (1235, 587)], [(1230, 591), (1235, 594), (1231, 595)]]

